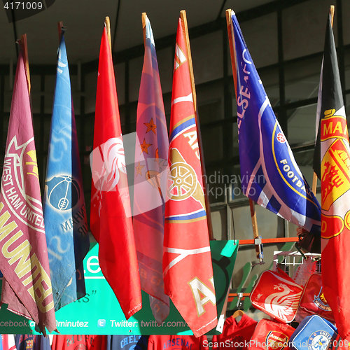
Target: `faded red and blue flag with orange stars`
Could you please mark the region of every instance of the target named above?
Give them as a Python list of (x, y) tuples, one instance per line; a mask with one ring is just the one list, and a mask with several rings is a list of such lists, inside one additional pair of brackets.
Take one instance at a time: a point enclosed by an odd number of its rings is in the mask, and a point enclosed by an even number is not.
[(141, 288), (150, 295), (153, 316), (161, 324), (169, 315), (162, 272), (169, 140), (151, 22), (142, 15), (145, 55), (137, 106), (134, 235)]

